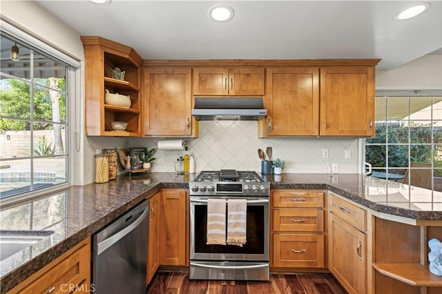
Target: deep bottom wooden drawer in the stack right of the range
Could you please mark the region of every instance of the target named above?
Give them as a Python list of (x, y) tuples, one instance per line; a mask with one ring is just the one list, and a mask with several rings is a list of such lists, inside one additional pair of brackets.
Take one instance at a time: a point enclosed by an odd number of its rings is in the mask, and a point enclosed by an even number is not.
[(324, 235), (273, 234), (273, 266), (324, 267)]

